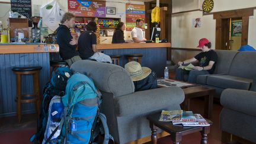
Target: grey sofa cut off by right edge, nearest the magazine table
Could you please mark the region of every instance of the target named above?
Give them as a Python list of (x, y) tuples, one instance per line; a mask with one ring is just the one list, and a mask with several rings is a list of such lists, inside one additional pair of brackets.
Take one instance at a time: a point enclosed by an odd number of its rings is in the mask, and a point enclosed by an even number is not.
[[(220, 97), (220, 103), (223, 105), (220, 113), (222, 142), (231, 142), (235, 136), (238, 136), (256, 143), (256, 85), (253, 90), (225, 89), (222, 92)], [(225, 135), (226, 133), (228, 135)]]

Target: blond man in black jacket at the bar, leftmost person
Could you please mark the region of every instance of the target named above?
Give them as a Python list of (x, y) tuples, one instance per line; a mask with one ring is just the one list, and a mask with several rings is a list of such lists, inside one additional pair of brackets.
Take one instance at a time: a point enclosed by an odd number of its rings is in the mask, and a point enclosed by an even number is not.
[(71, 66), (72, 63), (81, 60), (79, 53), (76, 52), (77, 40), (72, 37), (69, 30), (75, 24), (75, 15), (66, 12), (60, 23), (57, 28), (57, 43), (59, 44), (60, 57)]

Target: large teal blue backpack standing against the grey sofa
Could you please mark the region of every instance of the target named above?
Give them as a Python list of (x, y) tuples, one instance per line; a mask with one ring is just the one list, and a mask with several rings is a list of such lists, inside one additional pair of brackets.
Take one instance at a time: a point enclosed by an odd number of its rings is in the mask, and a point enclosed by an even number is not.
[[(68, 79), (66, 94), (61, 97), (64, 108), (62, 119), (54, 130), (51, 129), (52, 135), (44, 137), (43, 143), (92, 143), (93, 126), (102, 117), (99, 110), (100, 97), (101, 93), (95, 88), (92, 79), (81, 73), (73, 74)], [(108, 133), (107, 121), (101, 122), (105, 125), (103, 128), (108, 142), (113, 137)], [(61, 134), (56, 138), (55, 133), (60, 130)]]

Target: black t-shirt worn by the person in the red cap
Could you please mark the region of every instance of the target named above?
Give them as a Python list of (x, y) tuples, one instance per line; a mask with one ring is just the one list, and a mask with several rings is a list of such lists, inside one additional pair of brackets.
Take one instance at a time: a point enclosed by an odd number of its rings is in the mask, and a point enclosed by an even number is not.
[(199, 66), (207, 66), (209, 65), (210, 61), (215, 62), (212, 69), (207, 70), (210, 74), (214, 72), (215, 65), (217, 63), (217, 53), (214, 50), (209, 50), (208, 52), (201, 52), (197, 54), (194, 58), (199, 60)]

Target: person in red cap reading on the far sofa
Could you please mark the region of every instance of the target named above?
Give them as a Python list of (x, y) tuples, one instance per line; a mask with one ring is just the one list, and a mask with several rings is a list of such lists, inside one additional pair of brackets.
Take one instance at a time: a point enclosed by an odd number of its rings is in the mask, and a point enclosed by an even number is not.
[(188, 82), (196, 83), (197, 75), (212, 74), (215, 70), (215, 64), (217, 62), (217, 53), (211, 49), (212, 44), (206, 38), (199, 40), (199, 46), (202, 52), (191, 59), (178, 62), (178, 65), (184, 65), (199, 61), (199, 66), (194, 66), (194, 70), (187, 71), (185, 69), (178, 68), (176, 71), (176, 79), (184, 81), (184, 75), (188, 74)]

